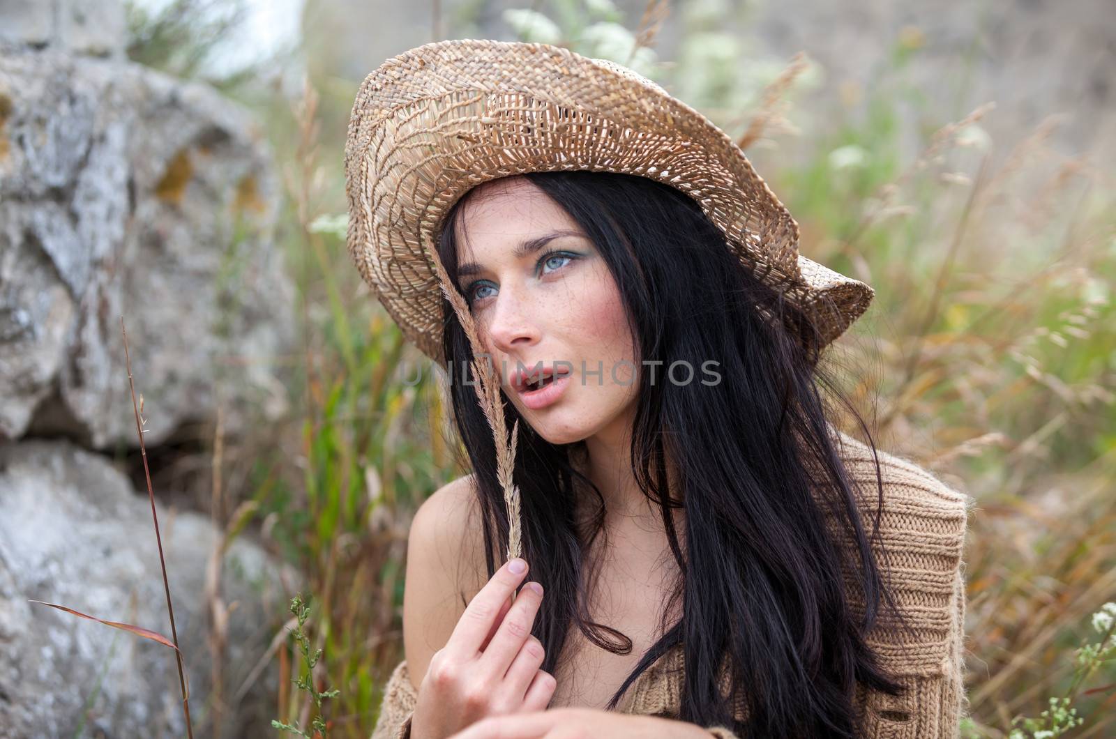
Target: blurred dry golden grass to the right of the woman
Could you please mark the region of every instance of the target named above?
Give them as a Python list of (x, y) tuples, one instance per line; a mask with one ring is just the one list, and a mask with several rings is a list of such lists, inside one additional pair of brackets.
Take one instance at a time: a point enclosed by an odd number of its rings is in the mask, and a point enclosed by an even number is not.
[[(923, 176), (937, 189), (913, 202), (898, 181), (886, 191), (939, 224), (913, 244), (933, 258), (873, 248), (902, 242), (886, 221), (835, 247), (858, 242), (884, 286), (886, 319), (839, 358), (869, 368), (847, 373), (853, 394), (877, 409), (885, 445), (979, 501), (965, 555), (974, 736), (1007, 736), (1064, 693), (1089, 614), (1116, 593), (1116, 203), (1101, 173), (1043, 140), (994, 171), (982, 156), (971, 177), (935, 176), (950, 173), (939, 160)], [(1116, 727), (1114, 679), (1109, 666), (1106, 688), (1076, 697), (1086, 731)]]

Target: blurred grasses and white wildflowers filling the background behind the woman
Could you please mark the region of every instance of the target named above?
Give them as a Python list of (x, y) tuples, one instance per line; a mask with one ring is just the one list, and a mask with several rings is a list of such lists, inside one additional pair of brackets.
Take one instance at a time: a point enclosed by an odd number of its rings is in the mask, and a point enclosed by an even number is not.
[[(291, 416), (227, 441), (221, 464), (229, 509), (252, 501), (262, 540), (307, 577), (307, 628), (324, 650), (316, 676), (339, 690), (325, 703), (333, 736), (371, 732), (402, 659), (410, 518), (464, 472), (429, 361), (403, 343), (345, 249), (347, 118), (387, 56), (477, 36), (626, 64), (742, 142), (799, 221), (802, 252), (876, 289), (830, 361), (877, 443), (979, 501), (965, 551), (966, 735), (1008, 736), (1013, 719), (1064, 697), (1084, 718), (1075, 736), (1116, 732), (1116, 668), (1083, 679), (1077, 651), (1112, 632), (1110, 618), (1090, 616), (1116, 599), (1113, 162), (1103, 148), (1067, 153), (1057, 119), (993, 133), (1004, 127), (985, 103), (998, 95), (981, 97), (974, 81), (987, 6), (968, 6), (950, 65), (931, 64), (942, 49), (904, 25), (866, 35), (849, 54), (873, 55), (870, 75), (840, 79), (808, 48), (792, 58), (797, 49), (751, 42), (756, 3), (708, 0), (277, 3), (296, 32), (222, 68), (257, 4), (133, 2), (128, 55), (253, 109), (283, 175), (277, 246), (300, 317), (300, 351), (281, 367)], [(934, 88), (949, 94), (927, 93), (927, 69), (949, 71)], [(1016, 85), (1028, 93), (1027, 79)], [(825, 109), (811, 103), (822, 93), (834, 102)], [(420, 366), (417, 385), (402, 381)], [(204, 507), (209, 492), (196, 496)], [(289, 688), (296, 655), (292, 642), (278, 649), (276, 710), (305, 726), (309, 698)], [(1055, 736), (1055, 723), (1016, 729)]]

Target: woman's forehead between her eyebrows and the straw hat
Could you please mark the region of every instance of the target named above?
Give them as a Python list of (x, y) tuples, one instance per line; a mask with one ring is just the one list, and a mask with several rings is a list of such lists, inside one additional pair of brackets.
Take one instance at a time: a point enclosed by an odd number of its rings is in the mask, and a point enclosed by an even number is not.
[(580, 230), (561, 205), (522, 176), (492, 180), (470, 190), (455, 229), (458, 243), (477, 252), (502, 249), (546, 231)]

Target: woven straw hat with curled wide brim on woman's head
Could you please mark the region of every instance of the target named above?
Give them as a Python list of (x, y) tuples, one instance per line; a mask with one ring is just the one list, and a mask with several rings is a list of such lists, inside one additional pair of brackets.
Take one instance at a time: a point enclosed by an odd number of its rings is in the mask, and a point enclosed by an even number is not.
[(743, 263), (808, 311), (825, 344), (872, 300), (864, 282), (798, 253), (798, 224), (740, 147), (657, 84), (547, 44), (436, 41), (365, 78), (345, 146), (349, 252), (424, 354), (444, 363), (433, 260), (446, 212), (489, 180), (555, 170), (682, 190)]

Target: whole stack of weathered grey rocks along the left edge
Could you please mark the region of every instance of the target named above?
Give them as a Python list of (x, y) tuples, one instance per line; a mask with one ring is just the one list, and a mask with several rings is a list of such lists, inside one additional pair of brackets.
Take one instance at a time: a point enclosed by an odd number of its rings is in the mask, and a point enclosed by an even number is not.
[[(283, 411), (262, 131), (123, 45), (118, 0), (0, 0), (0, 739), (185, 736), (172, 650), (29, 603), (171, 633), (146, 491), (104, 453), (138, 444), (122, 317), (148, 451), (219, 404), (230, 443)], [(219, 557), (206, 516), (158, 518), (194, 735), (272, 736), (296, 575), (248, 535)]]

